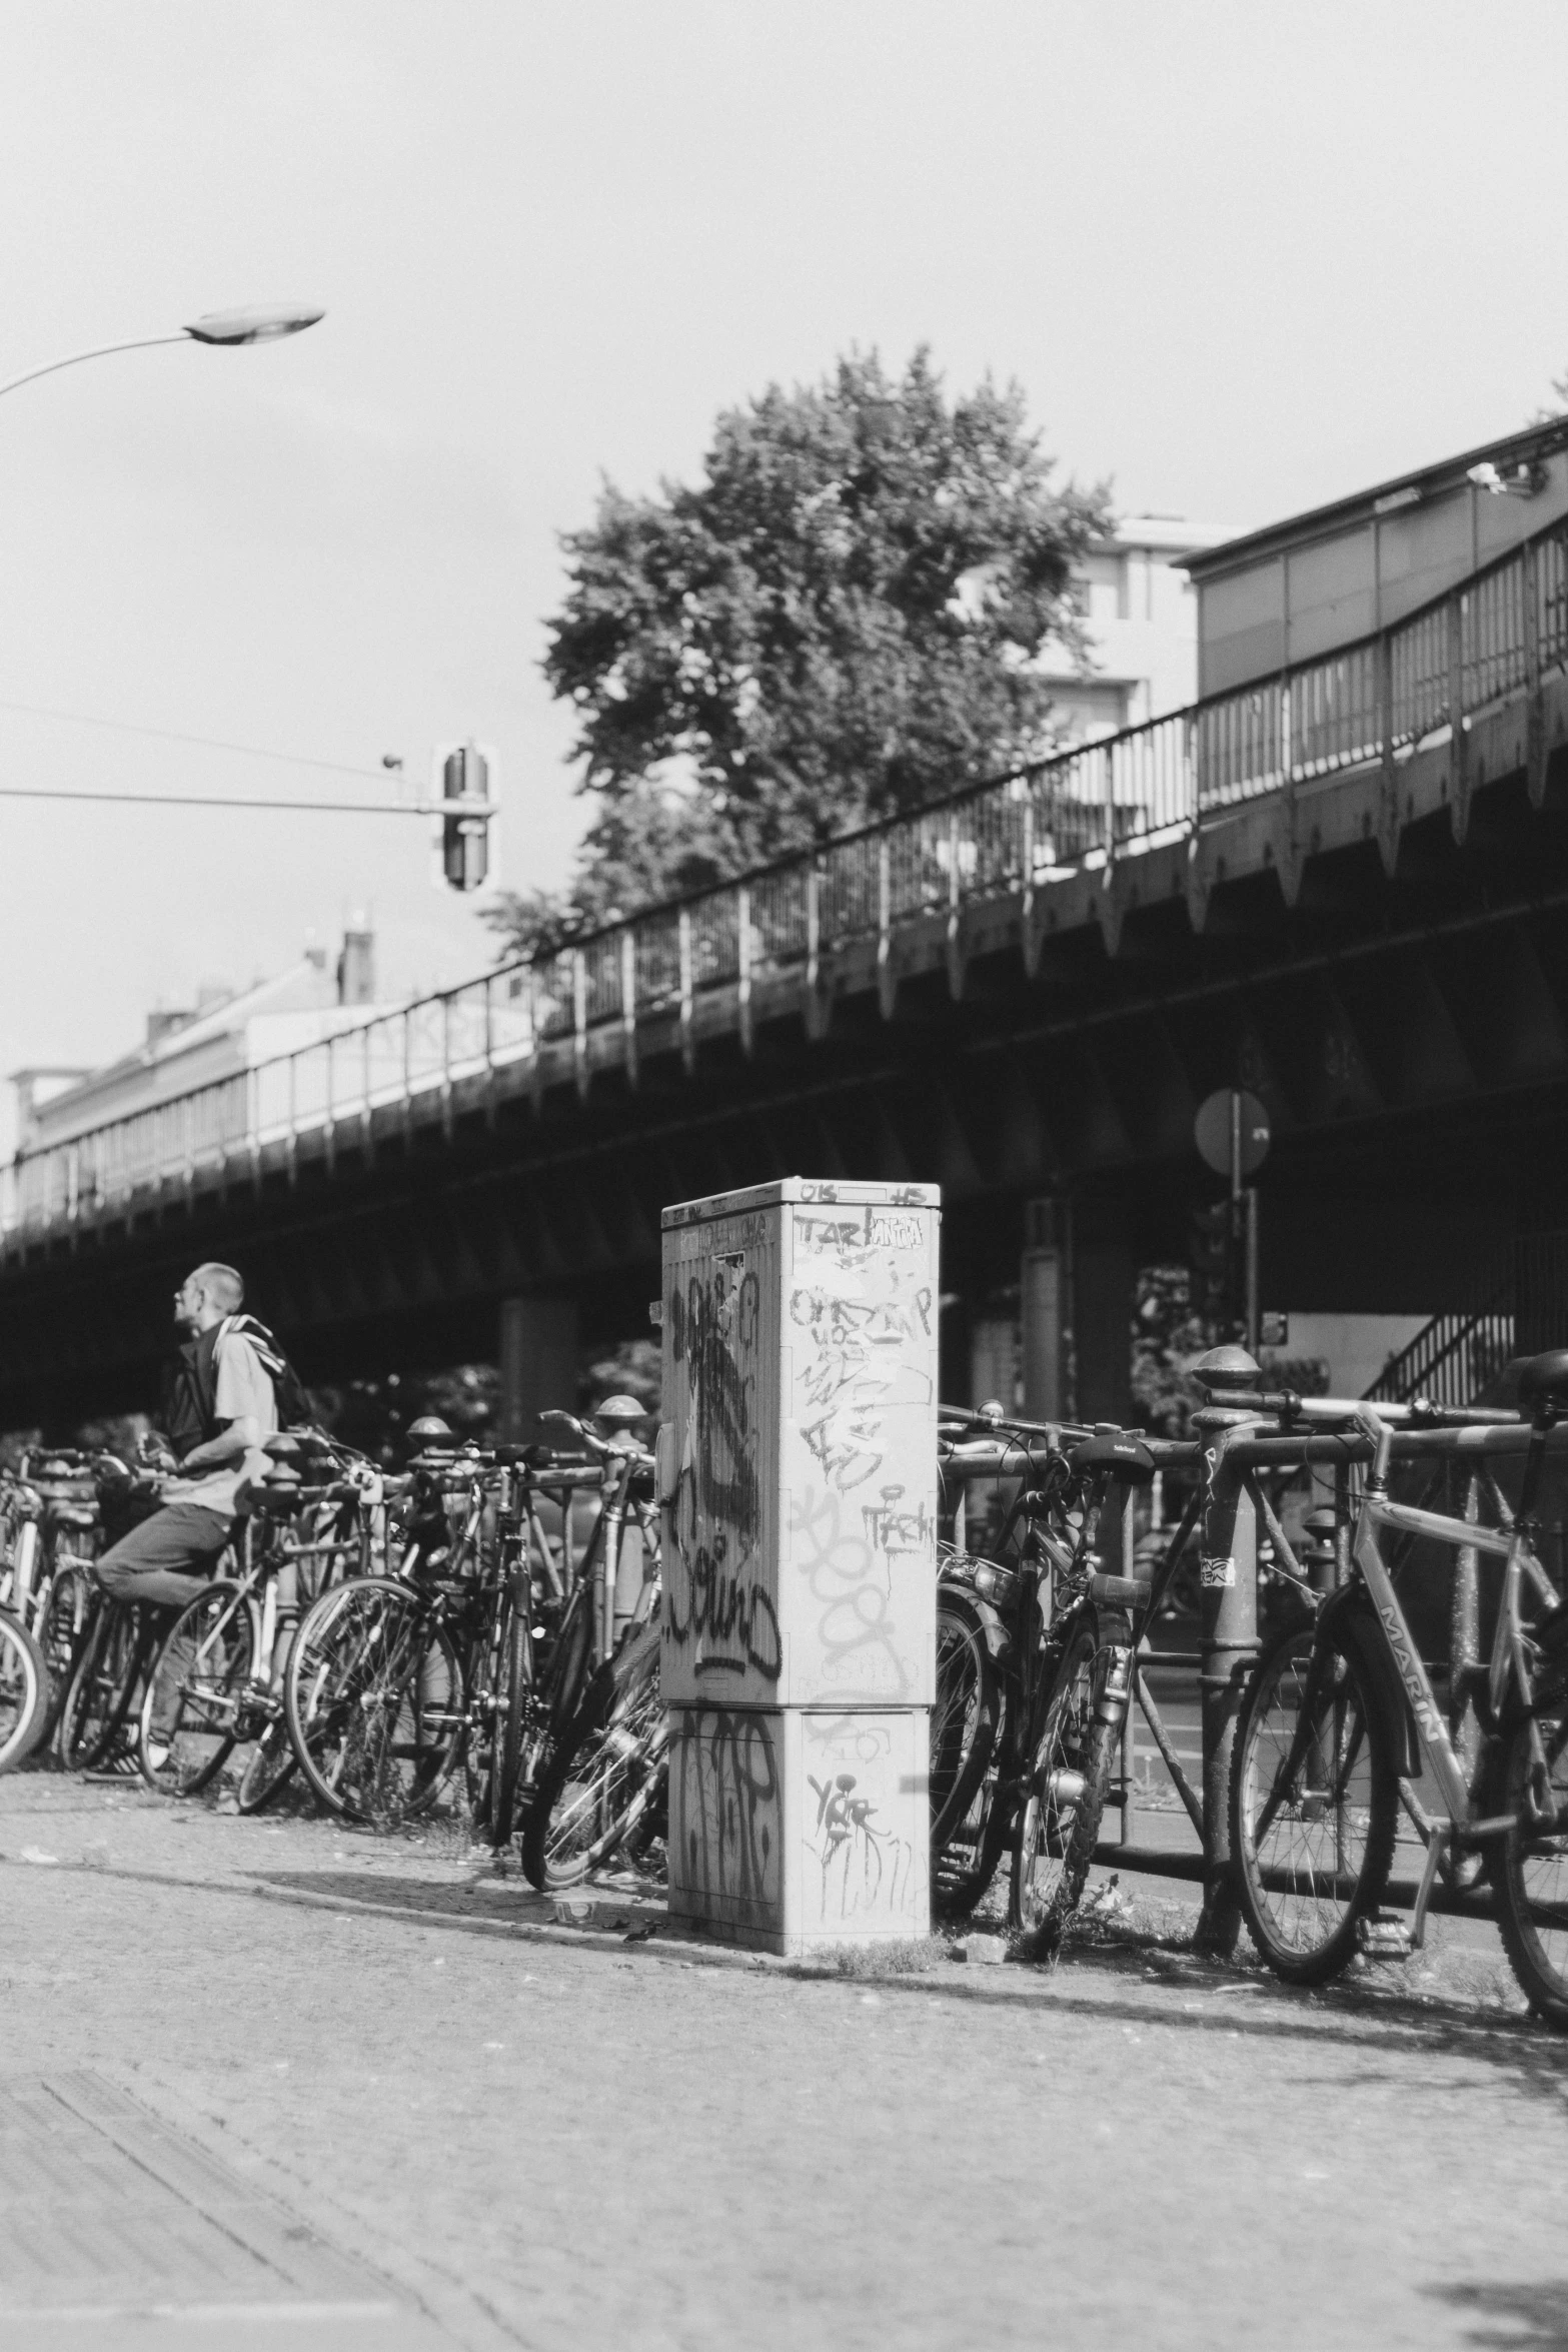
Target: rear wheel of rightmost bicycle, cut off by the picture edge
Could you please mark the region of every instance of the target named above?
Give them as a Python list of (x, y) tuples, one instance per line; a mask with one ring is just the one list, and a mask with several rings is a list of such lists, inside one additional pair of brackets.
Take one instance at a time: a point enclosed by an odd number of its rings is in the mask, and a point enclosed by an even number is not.
[(1497, 1929), (1530, 2009), (1568, 2025), (1568, 1689), (1514, 1726), (1500, 1780), (1514, 1828), (1493, 1849)]

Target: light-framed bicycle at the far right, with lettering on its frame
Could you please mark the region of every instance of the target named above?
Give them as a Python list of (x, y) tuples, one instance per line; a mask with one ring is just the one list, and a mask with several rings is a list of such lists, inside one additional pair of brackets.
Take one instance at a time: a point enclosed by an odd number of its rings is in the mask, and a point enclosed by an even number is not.
[[(1568, 1411), (1568, 1350), (1530, 1357), (1519, 1395), (1533, 1416), (1521, 1498), (1495, 1529), (1389, 1501), (1392, 1414), (1340, 1409), (1371, 1449), (1352, 1566), (1258, 1661), (1237, 1722), (1229, 1825), (1248, 1929), (1288, 1983), (1324, 1983), (1359, 1947), (1420, 1950), (1443, 1860), (1481, 1853), (1514, 1976), (1537, 2013), (1568, 2025), (1568, 1606), (1535, 1522), (1547, 1432)], [(1483, 1738), (1472, 1769), (1389, 1578), (1382, 1529), (1502, 1562), (1493, 1649), (1474, 1675)], [(1422, 1764), (1436, 1813), (1415, 1799)], [(1425, 1842), (1408, 1924), (1380, 1912), (1401, 1802)]]

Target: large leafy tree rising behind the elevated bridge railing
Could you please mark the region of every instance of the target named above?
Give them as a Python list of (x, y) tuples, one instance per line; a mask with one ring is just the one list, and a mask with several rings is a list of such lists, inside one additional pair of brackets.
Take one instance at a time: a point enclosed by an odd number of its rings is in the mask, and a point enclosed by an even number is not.
[(545, 654), (595, 816), (569, 891), (494, 924), (552, 943), (1048, 750), (1037, 656), (1084, 649), (1070, 574), (1107, 520), (1018, 386), (950, 402), (924, 350), (729, 409), (696, 487), (607, 482)]

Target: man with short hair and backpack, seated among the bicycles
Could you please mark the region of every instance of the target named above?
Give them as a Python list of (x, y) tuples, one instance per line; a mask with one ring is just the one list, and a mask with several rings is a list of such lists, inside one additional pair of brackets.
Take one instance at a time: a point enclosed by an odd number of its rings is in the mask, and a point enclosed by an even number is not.
[(174, 1294), (188, 1331), (165, 1397), (165, 1430), (179, 1475), (162, 1508), (132, 1526), (99, 1559), (113, 1599), (183, 1609), (212, 1578), (237, 1512), (240, 1486), (266, 1477), (263, 1442), (277, 1430), (282, 1357), (270, 1331), (242, 1315), (244, 1282), (233, 1265), (197, 1265)]

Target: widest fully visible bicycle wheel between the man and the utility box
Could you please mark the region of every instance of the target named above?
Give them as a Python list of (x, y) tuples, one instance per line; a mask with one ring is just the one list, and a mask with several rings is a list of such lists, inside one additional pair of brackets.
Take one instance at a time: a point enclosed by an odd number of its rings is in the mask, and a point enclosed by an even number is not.
[(303, 1618), (284, 1708), (299, 1766), (322, 1804), (390, 1825), (435, 1804), (456, 1764), (463, 1672), (418, 1592), (355, 1576)]

